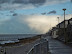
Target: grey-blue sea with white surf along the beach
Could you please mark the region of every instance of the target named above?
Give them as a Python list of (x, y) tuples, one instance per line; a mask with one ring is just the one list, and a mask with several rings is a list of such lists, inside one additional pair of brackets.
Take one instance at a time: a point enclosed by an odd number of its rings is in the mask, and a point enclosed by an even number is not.
[(19, 42), (18, 39), (36, 36), (37, 34), (0, 34), (0, 44)]

